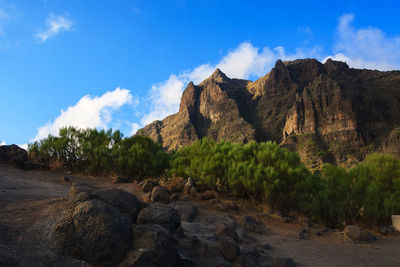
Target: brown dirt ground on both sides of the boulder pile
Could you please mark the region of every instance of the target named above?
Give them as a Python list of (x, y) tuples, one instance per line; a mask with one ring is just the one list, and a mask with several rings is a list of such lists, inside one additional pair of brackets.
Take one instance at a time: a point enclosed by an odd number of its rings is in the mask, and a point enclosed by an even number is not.
[[(71, 182), (96, 188), (121, 188), (135, 193), (134, 184), (112, 184), (106, 178), (66, 175), (51, 171), (23, 171), (0, 164), (0, 266), (84, 266), (67, 257), (54, 260), (54, 249), (38, 236), (46, 218), (45, 210), (68, 196)], [(269, 213), (254, 210), (221, 212), (195, 201), (199, 216), (230, 215), (237, 218), (252, 215), (263, 222), (266, 233), (253, 234), (255, 243), (268, 243), (273, 257), (291, 257), (298, 266), (400, 266), (400, 235), (374, 233), (373, 243), (354, 243), (337, 230), (321, 231), (313, 226), (304, 239), (297, 233), (304, 227), (294, 221), (285, 223)], [(320, 235), (317, 235), (320, 233)], [(53, 259), (52, 261), (47, 259)]]

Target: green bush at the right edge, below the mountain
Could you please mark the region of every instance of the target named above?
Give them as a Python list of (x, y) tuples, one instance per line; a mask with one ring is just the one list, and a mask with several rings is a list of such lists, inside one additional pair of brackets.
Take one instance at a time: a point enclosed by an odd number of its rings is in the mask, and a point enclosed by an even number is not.
[(330, 226), (390, 223), (400, 213), (400, 160), (371, 154), (349, 170), (325, 165), (310, 214)]

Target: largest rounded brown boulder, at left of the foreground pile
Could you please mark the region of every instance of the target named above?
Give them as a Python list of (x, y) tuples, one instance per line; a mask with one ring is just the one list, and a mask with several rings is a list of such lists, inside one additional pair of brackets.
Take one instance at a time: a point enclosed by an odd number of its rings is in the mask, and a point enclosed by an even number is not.
[(63, 254), (92, 265), (113, 265), (130, 245), (129, 220), (101, 200), (79, 203), (70, 216), (58, 221), (53, 239)]

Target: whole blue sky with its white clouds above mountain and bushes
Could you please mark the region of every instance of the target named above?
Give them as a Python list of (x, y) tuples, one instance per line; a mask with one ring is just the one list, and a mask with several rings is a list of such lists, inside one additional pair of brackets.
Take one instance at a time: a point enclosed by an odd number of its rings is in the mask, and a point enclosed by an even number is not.
[(0, 0), (0, 143), (66, 125), (129, 136), (216, 67), (252, 80), (279, 58), (399, 69), (399, 12), (384, 0)]

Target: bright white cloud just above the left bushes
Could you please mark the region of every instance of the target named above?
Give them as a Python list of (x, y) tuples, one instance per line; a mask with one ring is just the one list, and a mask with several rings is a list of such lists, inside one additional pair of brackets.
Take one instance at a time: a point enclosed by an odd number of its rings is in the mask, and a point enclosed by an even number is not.
[(116, 88), (100, 97), (82, 97), (74, 106), (61, 110), (52, 122), (39, 127), (38, 134), (30, 141), (46, 138), (49, 134), (58, 135), (59, 129), (67, 126), (78, 128), (108, 128), (112, 112), (131, 103), (132, 95), (127, 89)]

